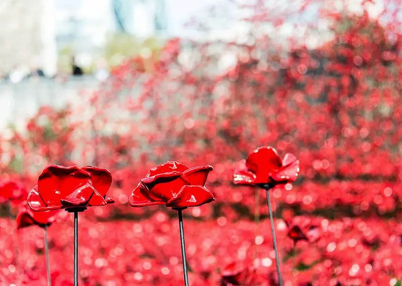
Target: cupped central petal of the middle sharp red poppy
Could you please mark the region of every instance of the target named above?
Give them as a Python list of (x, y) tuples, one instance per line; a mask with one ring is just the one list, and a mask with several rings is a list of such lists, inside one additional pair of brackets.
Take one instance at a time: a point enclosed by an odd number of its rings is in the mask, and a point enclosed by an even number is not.
[(148, 189), (148, 197), (154, 201), (167, 202), (180, 192), (187, 183), (181, 178), (180, 172), (158, 174), (141, 180)]

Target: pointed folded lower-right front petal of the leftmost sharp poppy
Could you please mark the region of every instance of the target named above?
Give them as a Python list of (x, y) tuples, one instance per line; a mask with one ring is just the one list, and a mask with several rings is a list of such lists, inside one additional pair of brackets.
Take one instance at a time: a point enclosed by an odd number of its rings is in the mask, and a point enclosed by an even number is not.
[[(86, 185), (76, 189), (74, 192), (66, 196), (64, 199), (61, 199), (61, 204), (65, 208), (74, 207), (74, 206), (87, 206), (89, 200), (91, 200), (92, 196), (95, 194), (95, 189), (92, 185), (87, 183)], [(105, 200), (99, 194), (95, 194), (95, 203), (94, 205), (106, 205)]]

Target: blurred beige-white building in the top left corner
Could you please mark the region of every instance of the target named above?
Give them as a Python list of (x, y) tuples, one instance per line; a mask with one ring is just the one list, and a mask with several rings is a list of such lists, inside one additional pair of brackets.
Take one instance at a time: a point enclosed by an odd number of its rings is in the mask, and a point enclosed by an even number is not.
[(55, 73), (52, 1), (0, 1), (0, 75), (19, 81), (38, 68)]

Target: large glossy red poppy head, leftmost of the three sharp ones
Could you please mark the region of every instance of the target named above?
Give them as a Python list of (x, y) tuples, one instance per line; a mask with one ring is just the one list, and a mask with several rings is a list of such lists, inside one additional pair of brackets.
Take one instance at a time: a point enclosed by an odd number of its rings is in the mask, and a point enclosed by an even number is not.
[(111, 184), (108, 169), (49, 165), (28, 194), (28, 205), (34, 211), (104, 206), (115, 202), (106, 196)]

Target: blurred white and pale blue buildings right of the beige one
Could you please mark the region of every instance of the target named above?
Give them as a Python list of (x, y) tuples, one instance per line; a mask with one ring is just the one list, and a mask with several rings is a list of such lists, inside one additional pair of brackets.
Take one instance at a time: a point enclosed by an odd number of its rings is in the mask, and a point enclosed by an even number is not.
[(102, 47), (111, 33), (149, 37), (167, 30), (164, 0), (52, 1), (59, 49), (72, 45), (87, 52)]

